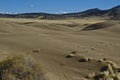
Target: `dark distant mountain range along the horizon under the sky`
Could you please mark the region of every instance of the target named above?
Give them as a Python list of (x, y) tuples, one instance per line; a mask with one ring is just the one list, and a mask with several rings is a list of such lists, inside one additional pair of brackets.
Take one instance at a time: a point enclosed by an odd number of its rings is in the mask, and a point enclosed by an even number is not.
[(21, 14), (3, 14), (0, 17), (7, 18), (39, 18), (39, 19), (67, 19), (67, 18), (85, 18), (85, 17), (107, 17), (110, 19), (120, 19), (120, 5), (107, 10), (98, 8), (89, 9), (83, 12), (67, 14), (48, 14), (48, 13), (21, 13)]

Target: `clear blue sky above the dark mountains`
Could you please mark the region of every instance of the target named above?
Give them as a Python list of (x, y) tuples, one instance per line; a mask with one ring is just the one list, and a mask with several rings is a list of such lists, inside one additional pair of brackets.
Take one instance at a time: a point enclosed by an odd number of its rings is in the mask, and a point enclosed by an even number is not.
[(0, 0), (0, 13), (73, 13), (91, 8), (109, 9), (120, 0)]

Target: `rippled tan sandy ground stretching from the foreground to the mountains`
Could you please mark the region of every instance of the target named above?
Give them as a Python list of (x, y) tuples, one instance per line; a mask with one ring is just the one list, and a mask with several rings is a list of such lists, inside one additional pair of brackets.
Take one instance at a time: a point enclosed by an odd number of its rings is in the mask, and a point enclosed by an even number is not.
[[(0, 19), (0, 59), (40, 49), (33, 57), (50, 80), (80, 80), (104, 65), (79, 62), (79, 56), (108, 58), (120, 64), (120, 22), (106, 20)], [(72, 51), (74, 58), (66, 58)]]

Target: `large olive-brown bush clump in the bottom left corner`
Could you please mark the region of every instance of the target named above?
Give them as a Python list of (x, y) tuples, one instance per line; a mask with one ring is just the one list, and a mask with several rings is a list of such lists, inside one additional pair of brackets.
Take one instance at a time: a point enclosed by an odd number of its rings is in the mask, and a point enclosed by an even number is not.
[(45, 73), (30, 56), (9, 57), (0, 62), (0, 80), (46, 80)]

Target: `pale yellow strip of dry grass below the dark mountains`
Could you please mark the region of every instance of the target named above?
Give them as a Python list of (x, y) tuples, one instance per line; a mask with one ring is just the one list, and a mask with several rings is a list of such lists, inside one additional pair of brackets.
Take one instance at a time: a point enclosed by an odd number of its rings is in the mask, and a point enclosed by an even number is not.
[(25, 19), (25, 18), (0, 18), (0, 21), (11, 21), (19, 23), (40, 22), (46, 24), (94, 24), (98, 22), (104, 22), (102, 19), (69, 19), (69, 20), (43, 20), (43, 19)]

